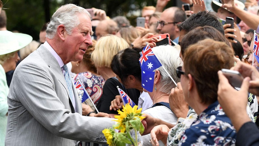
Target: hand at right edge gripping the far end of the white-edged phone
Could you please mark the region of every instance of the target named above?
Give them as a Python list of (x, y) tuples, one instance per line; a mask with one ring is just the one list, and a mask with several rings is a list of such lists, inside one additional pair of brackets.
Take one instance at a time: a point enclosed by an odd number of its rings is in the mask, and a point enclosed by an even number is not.
[(259, 96), (259, 72), (257, 69), (243, 62), (238, 62), (233, 70), (239, 71), (243, 77), (250, 77), (249, 92)]

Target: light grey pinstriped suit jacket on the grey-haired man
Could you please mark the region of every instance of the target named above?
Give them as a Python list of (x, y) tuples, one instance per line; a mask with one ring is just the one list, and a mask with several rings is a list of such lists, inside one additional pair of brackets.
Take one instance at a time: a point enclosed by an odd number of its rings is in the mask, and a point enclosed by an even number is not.
[(111, 118), (82, 116), (81, 100), (74, 85), (73, 90), (78, 113), (72, 113), (73, 106), (58, 62), (41, 45), (14, 72), (8, 95), (5, 145), (106, 143), (99, 138), (97, 141), (96, 137), (103, 135), (102, 130), (115, 122)]

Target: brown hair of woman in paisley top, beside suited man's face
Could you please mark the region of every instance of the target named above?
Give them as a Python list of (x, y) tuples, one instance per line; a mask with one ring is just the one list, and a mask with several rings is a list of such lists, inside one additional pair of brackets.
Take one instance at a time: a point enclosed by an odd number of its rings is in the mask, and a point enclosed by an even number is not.
[(92, 72), (92, 73), (97, 73), (97, 69), (96, 66), (94, 65), (92, 59), (91, 59), (91, 54), (95, 49), (95, 45), (96, 45), (96, 41), (93, 41), (93, 45), (88, 46), (87, 50), (85, 51), (85, 54), (83, 56), (83, 62), (85, 64), (85, 66), (87, 67), (87, 69)]

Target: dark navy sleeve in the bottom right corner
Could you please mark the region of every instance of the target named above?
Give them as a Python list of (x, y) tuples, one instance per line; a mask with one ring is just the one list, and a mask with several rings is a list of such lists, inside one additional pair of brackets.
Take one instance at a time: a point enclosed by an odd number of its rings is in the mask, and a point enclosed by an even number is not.
[(258, 146), (259, 129), (253, 122), (247, 122), (237, 132), (236, 146)]

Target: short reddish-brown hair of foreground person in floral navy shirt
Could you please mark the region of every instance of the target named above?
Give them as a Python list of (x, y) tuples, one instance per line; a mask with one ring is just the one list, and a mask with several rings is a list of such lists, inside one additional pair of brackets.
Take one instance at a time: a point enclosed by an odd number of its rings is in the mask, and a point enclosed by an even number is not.
[(190, 45), (185, 51), (185, 73), (191, 74), (202, 103), (217, 101), (218, 70), (234, 65), (234, 51), (225, 42), (204, 39)]

